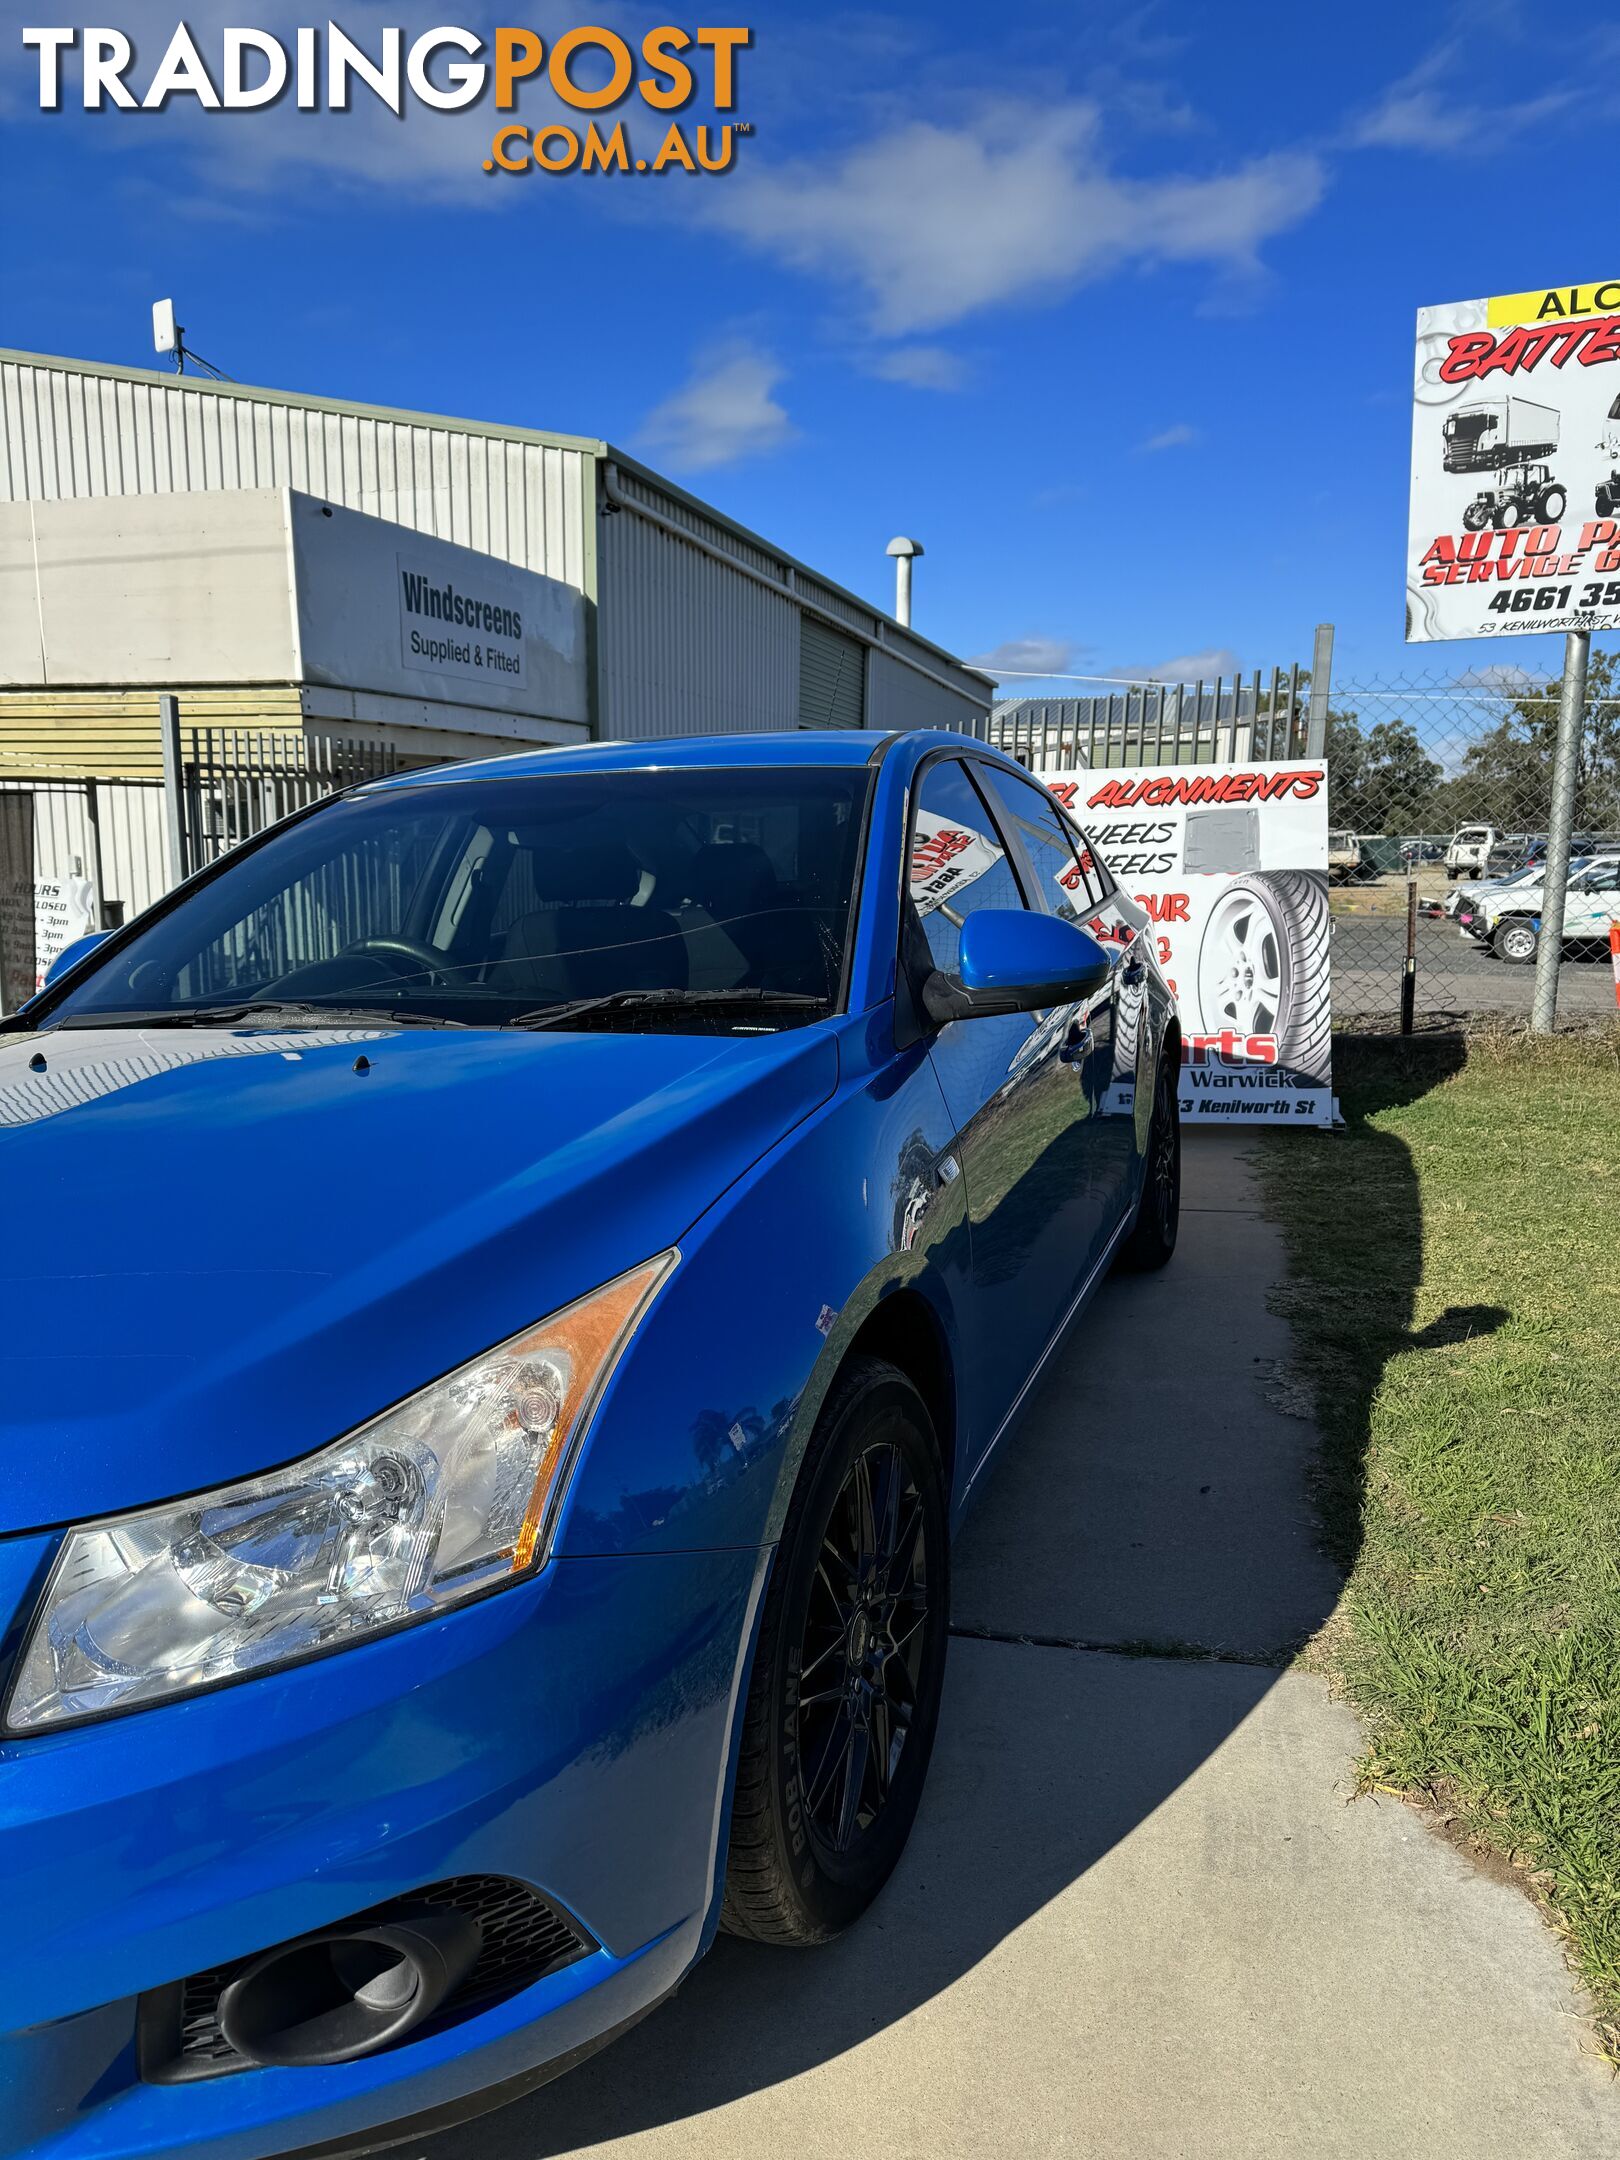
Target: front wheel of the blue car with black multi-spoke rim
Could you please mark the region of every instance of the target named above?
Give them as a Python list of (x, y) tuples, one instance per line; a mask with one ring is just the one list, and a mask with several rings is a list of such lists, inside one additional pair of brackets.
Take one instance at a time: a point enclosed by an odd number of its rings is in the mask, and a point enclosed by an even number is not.
[(851, 1359), (823, 1404), (765, 1594), (743, 1713), (721, 1927), (832, 1942), (905, 1849), (950, 1624), (948, 1512), (929, 1410)]

